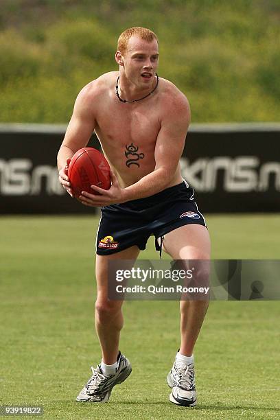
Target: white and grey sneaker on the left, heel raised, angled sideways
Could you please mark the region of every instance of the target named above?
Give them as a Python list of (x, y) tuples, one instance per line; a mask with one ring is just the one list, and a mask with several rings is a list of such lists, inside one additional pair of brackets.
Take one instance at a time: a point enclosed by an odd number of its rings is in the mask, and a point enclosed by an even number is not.
[(108, 402), (113, 387), (124, 382), (132, 371), (129, 360), (120, 352), (117, 357), (117, 362), (119, 362), (117, 371), (114, 375), (110, 376), (104, 375), (100, 365), (96, 369), (93, 369), (91, 366), (93, 375), (89, 378), (84, 388), (82, 388), (76, 401)]

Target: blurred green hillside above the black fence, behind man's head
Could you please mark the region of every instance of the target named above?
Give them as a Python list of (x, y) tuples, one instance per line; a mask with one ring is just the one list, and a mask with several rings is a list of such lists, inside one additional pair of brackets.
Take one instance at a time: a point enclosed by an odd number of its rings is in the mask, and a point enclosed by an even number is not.
[(278, 0), (1, 0), (0, 121), (69, 121), (131, 26), (159, 36), (193, 122), (279, 121), (279, 16)]

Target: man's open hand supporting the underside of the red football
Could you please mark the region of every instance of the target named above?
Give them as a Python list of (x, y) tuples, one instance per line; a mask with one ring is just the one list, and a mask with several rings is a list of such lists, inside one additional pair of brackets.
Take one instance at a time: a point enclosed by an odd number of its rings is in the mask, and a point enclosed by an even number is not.
[(82, 191), (82, 195), (79, 196), (79, 200), (82, 202), (82, 204), (90, 207), (104, 207), (111, 204), (119, 204), (120, 202), (128, 201), (126, 194), (124, 193), (124, 189), (119, 187), (117, 176), (115, 176), (112, 171), (110, 171), (110, 177), (112, 180), (112, 185), (109, 189), (103, 189), (96, 187), (96, 185), (91, 185), (93, 191), (99, 193), (98, 195), (89, 194), (86, 191)]

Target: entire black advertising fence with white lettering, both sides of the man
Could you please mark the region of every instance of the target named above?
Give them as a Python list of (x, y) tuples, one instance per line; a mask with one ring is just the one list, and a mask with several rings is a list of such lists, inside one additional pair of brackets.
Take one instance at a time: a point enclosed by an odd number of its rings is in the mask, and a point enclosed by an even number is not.
[[(0, 124), (0, 213), (93, 213), (58, 183), (66, 126)], [(192, 124), (180, 161), (204, 213), (280, 211), (280, 124)], [(98, 148), (95, 136), (89, 145)]]

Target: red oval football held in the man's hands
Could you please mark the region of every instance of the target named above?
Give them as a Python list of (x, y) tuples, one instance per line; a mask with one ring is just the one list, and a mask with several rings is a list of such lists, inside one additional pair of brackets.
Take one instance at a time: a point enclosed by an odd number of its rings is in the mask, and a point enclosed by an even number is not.
[(75, 152), (69, 163), (68, 176), (76, 198), (82, 191), (98, 194), (91, 185), (103, 189), (109, 189), (111, 185), (110, 166), (103, 154), (94, 148), (82, 148)]

